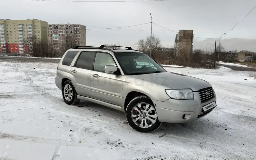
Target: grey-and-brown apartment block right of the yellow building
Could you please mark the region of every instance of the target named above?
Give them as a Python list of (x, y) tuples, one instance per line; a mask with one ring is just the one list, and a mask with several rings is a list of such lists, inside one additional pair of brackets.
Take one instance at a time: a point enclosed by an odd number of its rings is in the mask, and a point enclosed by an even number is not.
[[(86, 46), (86, 26), (78, 24), (48, 24), (48, 43), (60, 48), (64, 43)], [(72, 42), (71, 42), (72, 41)]]

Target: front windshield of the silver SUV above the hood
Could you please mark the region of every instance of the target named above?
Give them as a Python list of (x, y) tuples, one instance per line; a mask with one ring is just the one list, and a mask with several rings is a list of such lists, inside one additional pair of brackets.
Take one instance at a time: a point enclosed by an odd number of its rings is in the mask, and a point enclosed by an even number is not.
[(156, 61), (145, 53), (115, 53), (125, 75), (139, 75), (166, 72)]

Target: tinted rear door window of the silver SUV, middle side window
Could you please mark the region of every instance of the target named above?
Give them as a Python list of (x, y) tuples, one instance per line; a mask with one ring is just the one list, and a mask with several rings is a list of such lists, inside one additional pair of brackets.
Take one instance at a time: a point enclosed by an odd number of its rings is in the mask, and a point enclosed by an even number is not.
[(82, 52), (75, 64), (75, 67), (84, 69), (93, 69), (95, 52)]

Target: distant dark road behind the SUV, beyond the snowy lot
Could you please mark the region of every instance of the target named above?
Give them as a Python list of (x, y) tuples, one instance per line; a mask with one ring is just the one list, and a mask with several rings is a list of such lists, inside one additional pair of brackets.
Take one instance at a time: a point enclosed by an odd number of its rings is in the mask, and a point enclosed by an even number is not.
[[(59, 63), (60, 59), (51, 59), (51, 58), (26, 58), (26, 57), (8, 57), (8, 56), (0, 56), (0, 61), (21, 61), (21, 62)], [(228, 68), (231, 68), (232, 70), (256, 71), (256, 68), (229, 66), (229, 65), (224, 65), (224, 64), (219, 64), (219, 66), (228, 67)]]

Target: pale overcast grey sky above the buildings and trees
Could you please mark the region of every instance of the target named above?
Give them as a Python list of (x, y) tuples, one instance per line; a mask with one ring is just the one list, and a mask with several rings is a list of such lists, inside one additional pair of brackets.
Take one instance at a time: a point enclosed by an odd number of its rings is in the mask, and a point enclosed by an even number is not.
[[(174, 0), (154, 2), (1, 0), (0, 18), (35, 18), (48, 23), (68, 22), (85, 25), (87, 29), (90, 29), (147, 23), (151, 21), (149, 14), (151, 13), (154, 23), (170, 30), (176, 32), (180, 29), (194, 30), (194, 36), (218, 38), (236, 25), (255, 5), (256, 0)], [(254, 41), (256, 38), (255, 26), (256, 9), (223, 37), (223, 41), (225, 40), (224, 42), (227, 42), (227, 44), (230, 38), (236, 41), (234, 45), (225, 46), (223, 44), (225, 49), (241, 50), (244, 48), (245, 50), (256, 51), (255, 43), (238, 46), (240, 45), (240, 38), (243, 38), (241, 40), (243, 43), (246, 41), (256, 42)], [(149, 36), (150, 30), (151, 24), (120, 29), (87, 30), (87, 45), (114, 42), (136, 48), (138, 39)], [(161, 39), (164, 47), (171, 47), (174, 44), (175, 32), (153, 24), (152, 34)], [(194, 47), (199, 48), (203, 45), (205, 48), (207, 43), (214, 43), (214, 41), (215, 39), (194, 38)]]

